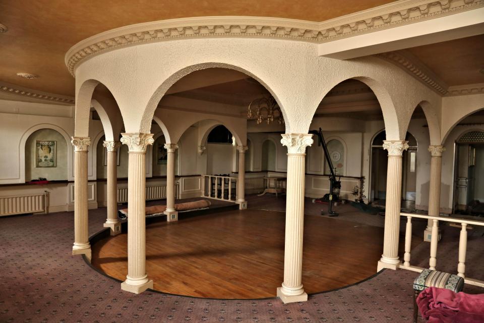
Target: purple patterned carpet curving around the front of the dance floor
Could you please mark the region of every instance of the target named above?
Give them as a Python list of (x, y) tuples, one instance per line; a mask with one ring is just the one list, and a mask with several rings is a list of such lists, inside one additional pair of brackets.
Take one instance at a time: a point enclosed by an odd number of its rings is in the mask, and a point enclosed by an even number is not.
[[(105, 208), (89, 211), (89, 232)], [(73, 212), (0, 219), (0, 322), (409, 322), (415, 273), (383, 271), (344, 289), (284, 305), (134, 295), (71, 255)]]

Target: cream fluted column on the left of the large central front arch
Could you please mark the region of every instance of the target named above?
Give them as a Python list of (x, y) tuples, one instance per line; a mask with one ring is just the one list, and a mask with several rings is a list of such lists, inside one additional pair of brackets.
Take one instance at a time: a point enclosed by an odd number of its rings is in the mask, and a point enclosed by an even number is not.
[(146, 147), (153, 144), (153, 134), (123, 133), (121, 142), (128, 145), (128, 276), (121, 289), (139, 294), (153, 288), (146, 275)]

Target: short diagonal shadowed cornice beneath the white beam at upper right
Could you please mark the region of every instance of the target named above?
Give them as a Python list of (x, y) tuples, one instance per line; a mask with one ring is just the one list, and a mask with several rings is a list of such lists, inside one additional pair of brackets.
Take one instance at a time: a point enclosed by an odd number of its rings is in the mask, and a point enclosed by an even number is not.
[(449, 86), (442, 81), (434, 72), (425, 66), (418, 58), (405, 50), (389, 51), (376, 55), (390, 63), (393, 63), (405, 72), (427, 85), (440, 95), (445, 95)]

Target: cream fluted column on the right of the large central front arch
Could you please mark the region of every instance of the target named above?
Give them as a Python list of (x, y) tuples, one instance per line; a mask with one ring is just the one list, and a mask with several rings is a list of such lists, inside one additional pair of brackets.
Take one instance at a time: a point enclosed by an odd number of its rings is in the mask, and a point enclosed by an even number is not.
[(302, 288), (302, 236), (304, 226), (304, 179), (306, 147), (313, 143), (311, 134), (283, 134), (287, 147), (286, 231), (284, 243), (284, 282), (277, 297), (284, 303), (307, 301)]

